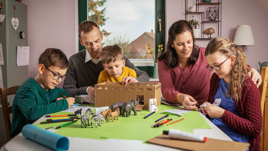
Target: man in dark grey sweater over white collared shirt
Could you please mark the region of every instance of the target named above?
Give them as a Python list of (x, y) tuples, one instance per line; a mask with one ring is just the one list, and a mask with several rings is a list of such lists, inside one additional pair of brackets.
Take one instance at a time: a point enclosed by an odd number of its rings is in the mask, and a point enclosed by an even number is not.
[[(69, 58), (70, 67), (66, 72), (66, 80), (63, 89), (73, 97), (74, 95), (88, 94), (94, 97), (94, 84), (97, 84), (99, 74), (104, 70), (100, 52), (102, 49), (103, 35), (99, 26), (94, 21), (83, 21), (78, 29), (79, 41), (86, 49), (72, 55)], [(122, 84), (127, 82), (149, 82), (146, 72), (135, 67), (129, 59), (124, 56), (125, 66), (135, 70), (137, 78), (124, 77)]]

